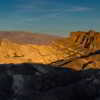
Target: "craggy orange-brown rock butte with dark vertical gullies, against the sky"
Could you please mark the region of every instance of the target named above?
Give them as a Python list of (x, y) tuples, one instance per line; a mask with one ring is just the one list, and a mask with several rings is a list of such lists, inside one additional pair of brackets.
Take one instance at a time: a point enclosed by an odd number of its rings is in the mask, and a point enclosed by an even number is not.
[(98, 33), (90, 30), (88, 32), (72, 32), (71, 36), (75, 43), (83, 48), (93, 49), (96, 47), (96, 39)]

